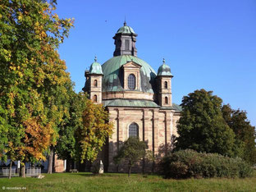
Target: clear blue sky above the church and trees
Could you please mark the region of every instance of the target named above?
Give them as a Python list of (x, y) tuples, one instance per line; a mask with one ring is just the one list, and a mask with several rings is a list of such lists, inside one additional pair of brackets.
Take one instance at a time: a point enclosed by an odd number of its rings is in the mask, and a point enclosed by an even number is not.
[(75, 18), (58, 52), (75, 91), (85, 85), (94, 56), (112, 57), (112, 37), (126, 23), (138, 34), (138, 57), (155, 71), (171, 66), (173, 102), (196, 89), (212, 90), (256, 126), (255, 0), (59, 0), (57, 14)]

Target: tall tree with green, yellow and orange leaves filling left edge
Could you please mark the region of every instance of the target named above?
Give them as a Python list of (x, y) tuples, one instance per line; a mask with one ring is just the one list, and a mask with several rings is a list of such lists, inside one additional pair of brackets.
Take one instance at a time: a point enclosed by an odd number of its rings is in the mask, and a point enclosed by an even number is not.
[[(21, 165), (44, 160), (67, 113), (71, 84), (57, 48), (73, 25), (57, 2), (0, 2), (0, 156)], [(10, 163), (11, 164), (11, 163)]]

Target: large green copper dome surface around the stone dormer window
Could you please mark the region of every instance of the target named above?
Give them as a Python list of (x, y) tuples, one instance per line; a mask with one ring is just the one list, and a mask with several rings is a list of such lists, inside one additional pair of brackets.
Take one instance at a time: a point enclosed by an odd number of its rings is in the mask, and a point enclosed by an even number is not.
[(123, 70), (121, 66), (130, 61), (141, 66), (141, 89), (139, 91), (153, 93), (156, 72), (147, 62), (144, 62), (139, 57), (131, 55), (112, 57), (107, 62), (103, 63), (103, 92), (124, 90)]

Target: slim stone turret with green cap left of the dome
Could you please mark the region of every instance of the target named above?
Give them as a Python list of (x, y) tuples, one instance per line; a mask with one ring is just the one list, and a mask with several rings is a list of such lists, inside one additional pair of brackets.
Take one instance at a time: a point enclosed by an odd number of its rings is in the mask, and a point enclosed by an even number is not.
[(86, 79), (89, 80), (89, 99), (94, 103), (102, 103), (102, 85), (103, 70), (102, 66), (97, 62), (97, 57), (89, 68), (89, 72), (85, 73)]

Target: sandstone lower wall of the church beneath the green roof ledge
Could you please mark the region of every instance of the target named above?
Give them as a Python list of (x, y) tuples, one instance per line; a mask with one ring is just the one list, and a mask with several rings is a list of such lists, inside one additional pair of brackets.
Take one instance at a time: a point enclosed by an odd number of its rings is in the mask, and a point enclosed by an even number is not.
[[(171, 144), (171, 135), (176, 133), (176, 124), (173, 123), (176, 123), (178, 116), (174, 115), (174, 111), (142, 107), (107, 107), (107, 109), (110, 121), (114, 125), (113, 135), (109, 138), (108, 144), (107, 171), (126, 171), (124, 166), (117, 168), (113, 157), (128, 139), (129, 126), (133, 122), (139, 126), (139, 139), (148, 144), (149, 150), (152, 150), (156, 157), (161, 157), (167, 151), (167, 146)], [(135, 170), (141, 171), (139, 167), (141, 169), (141, 163)], [(151, 167), (147, 167), (146, 170), (151, 170)]]

